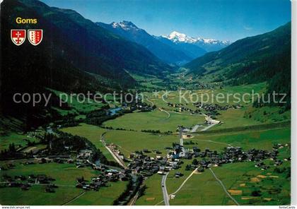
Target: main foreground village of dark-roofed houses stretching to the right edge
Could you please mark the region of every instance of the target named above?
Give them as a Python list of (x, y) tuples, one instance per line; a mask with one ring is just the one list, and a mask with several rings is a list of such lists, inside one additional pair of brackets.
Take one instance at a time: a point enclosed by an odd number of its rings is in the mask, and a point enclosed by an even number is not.
[[(180, 133), (181, 138), (187, 138), (190, 136), (185, 134), (182, 129)], [(184, 148), (184, 144), (194, 145), (192, 148)], [(164, 148), (166, 151), (166, 155), (161, 155), (162, 153), (159, 150), (148, 150), (144, 148), (141, 151), (137, 151), (135, 153), (129, 154), (128, 157), (125, 157), (121, 152), (120, 148), (115, 144), (107, 145), (110, 150), (117, 157), (119, 157), (122, 162), (129, 162), (127, 165), (126, 172), (131, 172), (132, 174), (139, 174), (143, 177), (150, 177), (153, 174), (161, 174), (164, 175), (170, 170), (179, 169), (183, 159), (192, 160), (191, 165), (187, 165), (186, 169), (194, 170), (198, 168), (199, 172), (203, 172), (204, 169), (209, 167), (218, 167), (222, 166), (226, 163), (234, 163), (234, 162), (255, 162), (255, 167), (259, 167), (260, 169), (268, 169), (269, 165), (265, 165), (262, 160), (272, 160), (274, 162), (274, 166), (281, 165), (284, 161), (291, 160), (290, 158), (284, 158), (282, 160), (277, 158), (279, 153), (279, 149), (289, 146), (289, 144), (274, 145), (271, 151), (268, 150), (243, 150), (240, 147), (232, 147), (228, 146), (225, 150), (219, 153), (217, 150), (209, 150), (206, 148), (205, 150), (200, 150), (199, 147), (192, 141), (183, 143), (180, 140), (180, 143), (173, 143), (173, 147)], [(148, 153), (154, 153), (155, 157), (148, 156)], [(199, 160), (197, 160), (199, 159)], [(175, 177), (181, 177), (182, 174), (177, 172)]]

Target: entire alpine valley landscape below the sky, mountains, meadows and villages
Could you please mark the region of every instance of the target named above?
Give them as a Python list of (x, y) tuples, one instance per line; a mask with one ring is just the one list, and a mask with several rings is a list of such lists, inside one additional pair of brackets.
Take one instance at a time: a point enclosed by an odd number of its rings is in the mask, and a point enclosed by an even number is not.
[(96, 21), (1, 2), (1, 205), (291, 203), (291, 22), (230, 42)]

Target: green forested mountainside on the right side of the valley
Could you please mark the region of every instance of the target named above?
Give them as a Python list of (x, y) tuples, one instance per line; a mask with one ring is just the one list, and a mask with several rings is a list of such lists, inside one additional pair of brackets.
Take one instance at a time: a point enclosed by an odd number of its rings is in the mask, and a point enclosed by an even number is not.
[[(267, 81), (268, 92), (291, 94), (291, 23), (238, 40), (185, 65), (202, 80), (233, 85)], [(288, 97), (288, 102), (290, 98)]]

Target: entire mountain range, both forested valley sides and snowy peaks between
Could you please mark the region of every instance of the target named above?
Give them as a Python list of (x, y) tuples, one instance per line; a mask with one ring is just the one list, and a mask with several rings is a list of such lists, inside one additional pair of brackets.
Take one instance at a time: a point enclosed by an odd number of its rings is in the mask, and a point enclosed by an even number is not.
[[(22, 25), (16, 23), (17, 17), (38, 21)], [(41, 28), (42, 43), (16, 46), (11, 42), (12, 28)], [(45, 119), (49, 109), (16, 104), (14, 93), (127, 90), (138, 85), (134, 75), (163, 79), (175, 73), (171, 64), (189, 61), (182, 67), (201, 79), (211, 76), (214, 82), (233, 85), (267, 81), (269, 91), (291, 92), (291, 23), (228, 44), (179, 32), (156, 37), (127, 21), (93, 23), (76, 11), (37, 0), (4, 0), (0, 110), (19, 118)], [(220, 47), (224, 48), (208, 52)]]

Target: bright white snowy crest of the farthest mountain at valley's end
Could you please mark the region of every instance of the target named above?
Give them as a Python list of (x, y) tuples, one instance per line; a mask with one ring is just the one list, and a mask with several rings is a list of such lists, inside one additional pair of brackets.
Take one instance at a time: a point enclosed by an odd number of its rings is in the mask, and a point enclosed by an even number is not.
[(171, 40), (172, 42), (185, 42), (190, 44), (223, 44), (228, 45), (230, 44), (229, 41), (220, 41), (220, 40), (214, 40), (214, 39), (205, 39), (201, 37), (190, 37), (188, 35), (185, 35), (181, 32), (173, 31), (170, 33), (170, 35), (163, 35), (162, 37), (167, 38), (168, 40)]

